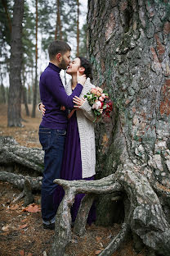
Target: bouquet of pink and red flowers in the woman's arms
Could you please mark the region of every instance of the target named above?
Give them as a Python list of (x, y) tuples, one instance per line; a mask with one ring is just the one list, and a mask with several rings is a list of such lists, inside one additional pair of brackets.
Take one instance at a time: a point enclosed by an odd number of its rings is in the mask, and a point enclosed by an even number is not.
[(103, 117), (110, 117), (110, 112), (113, 109), (113, 104), (108, 94), (100, 87), (92, 88), (87, 95), (87, 102), (92, 106), (95, 114), (95, 121), (101, 121)]

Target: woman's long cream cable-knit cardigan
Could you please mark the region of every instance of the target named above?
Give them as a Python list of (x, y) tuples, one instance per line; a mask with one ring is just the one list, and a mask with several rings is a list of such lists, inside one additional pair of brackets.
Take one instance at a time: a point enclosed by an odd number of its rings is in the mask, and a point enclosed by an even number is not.
[[(92, 88), (95, 88), (91, 84), (90, 79), (87, 78), (85, 85), (83, 86), (80, 98), (87, 94)], [(71, 80), (65, 86), (65, 91), (68, 95), (72, 94)], [(94, 115), (92, 107), (88, 104), (87, 100), (76, 111), (78, 121), (78, 131), (80, 137), (81, 157), (82, 157), (82, 170), (83, 178), (88, 178), (95, 175), (96, 166), (96, 147), (95, 147), (95, 132), (94, 132)]]

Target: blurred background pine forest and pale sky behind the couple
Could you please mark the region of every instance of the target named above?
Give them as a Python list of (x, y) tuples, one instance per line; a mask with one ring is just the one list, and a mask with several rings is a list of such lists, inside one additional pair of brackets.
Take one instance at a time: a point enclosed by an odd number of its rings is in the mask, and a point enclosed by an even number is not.
[[(7, 103), (9, 98), (14, 2), (13, 0), (0, 1), (0, 103)], [(87, 1), (83, 1), (83, 5), (78, 0), (66, 2), (63, 0), (26, 0), (24, 2), (20, 47), (22, 54), (22, 94), (20, 97), (22, 103), (25, 104), (28, 116), (35, 117), (35, 107), (39, 102), (38, 79), (48, 63), (48, 44), (54, 39), (62, 39), (67, 41), (73, 49), (72, 57), (87, 55), (86, 15)], [(61, 76), (66, 83), (68, 77), (64, 71)], [(14, 94), (12, 98), (13, 96)], [(28, 104), (33, 105), (32, 113), (30, 113)]]

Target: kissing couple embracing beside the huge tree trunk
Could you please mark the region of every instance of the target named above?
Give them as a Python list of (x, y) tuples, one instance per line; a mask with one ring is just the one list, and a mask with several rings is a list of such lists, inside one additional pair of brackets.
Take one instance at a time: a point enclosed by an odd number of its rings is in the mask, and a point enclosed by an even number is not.
[[(92, 107), (83, 98), (95, 86), (91, 84), (92, 66), (84, 57), (70, 62), (68, 43), (56, 40), (49, 45), (50, 62), (39, 82), (42, 103), (42, 122), (39, 140), (44, 150), (42, 178), (42, 222), (46, 229), (55, 228), (56, 211), (65, 192), (53, 181), (93, 180), (96, 152), (94, 115)], [(65, 86), (60, 79), (61, 69), (72, 79)], [(84, 194), (77, 194), (71, 208), (72, 221)], [(95, 221), (94, 205), (87, 222)]]

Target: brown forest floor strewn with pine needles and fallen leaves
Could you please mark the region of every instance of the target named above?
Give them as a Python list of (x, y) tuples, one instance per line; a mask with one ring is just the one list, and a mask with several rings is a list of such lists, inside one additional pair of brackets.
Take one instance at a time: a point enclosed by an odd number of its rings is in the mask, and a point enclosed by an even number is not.
[[(30, 106), (29, 106), (30, 107)], [(30, 107), (31, 109), (31, 107)], [(26, 147), (41, 147), (38, 141), (38, 126), (41, 113), (36, 112), (36, 118), (26, 117), (22, 106), (24, 127), (7, 127), (7, 106), (0, 105), (0, 135), (12, 136)], [(40, 194), (34, 194), (35, 204), (24, 207), (24, 199), (12, 203), (20, 194), (13, 185), (0, 181), (0, 255), (1, 256), (46, 256), (51, 249), (54, 231), (42, 228), (40, 213)], [(95, 256), (100, 254), (108, 243), (119, 233), (121, 226), (103, 227), (87, 226), (86, 234), (73, 238), (66, 248), (68, 256)], [(112, 256), (146, 256), (145, 249), (139, 254), (133, 250), (132, 240), (122, 245)]]

